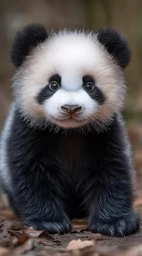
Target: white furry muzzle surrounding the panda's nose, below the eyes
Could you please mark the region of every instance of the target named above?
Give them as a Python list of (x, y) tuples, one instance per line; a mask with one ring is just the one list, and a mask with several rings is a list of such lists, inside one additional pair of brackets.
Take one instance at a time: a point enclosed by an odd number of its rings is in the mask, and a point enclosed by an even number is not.
[[(61, 111), (61, 106), (79, 105), (82, 107), (82, 111), (76, 114), (76, 120), (68, 120), (65, 113)], [(88, 116), (92, 115), (97, 109), (96, 101), (93, 101), (84, 90), (78, 91), (65, 91), (60, 89), (56, 93), (45, 101), (44, 108), (46, 112), (46, 118), (54, 118), (55, 123), (65, 128), (72, 128), (81, 126), (86, 123)], [(63, 121), (58, 122), (57, 120)], [(79, 121), (79, 122), (76, 122)]]

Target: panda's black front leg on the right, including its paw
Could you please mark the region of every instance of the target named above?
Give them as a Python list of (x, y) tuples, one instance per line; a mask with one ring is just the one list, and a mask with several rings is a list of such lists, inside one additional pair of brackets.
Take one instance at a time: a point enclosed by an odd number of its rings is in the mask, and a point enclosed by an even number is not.
[[(87, 197), (88, 229), (110, 236), (125, 236), (138, 229), (137, 215), (132, 210), (132, 187), (125, 161), (110, 157)], [(91, 181), (92, 184), (92, 181)], [(88, 199), (89, 198), (89, 199)]]

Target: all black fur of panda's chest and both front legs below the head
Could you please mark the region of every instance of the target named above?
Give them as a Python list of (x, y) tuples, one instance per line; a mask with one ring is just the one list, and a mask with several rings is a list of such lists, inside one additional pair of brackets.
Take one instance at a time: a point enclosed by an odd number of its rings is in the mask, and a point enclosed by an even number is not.
[(25, 225), (65, 233), (70, 219), (87, 216), (93, 232), (137, 231), (126, 140), (117, 115), (104, 133), (86, 135), (35, 130), (15, 112), (7, 140), (10, 197)]

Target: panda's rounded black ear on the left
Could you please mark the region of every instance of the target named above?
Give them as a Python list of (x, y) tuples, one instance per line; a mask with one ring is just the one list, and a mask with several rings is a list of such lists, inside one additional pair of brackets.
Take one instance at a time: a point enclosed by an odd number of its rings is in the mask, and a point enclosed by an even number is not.
[(44, 42), (47, 37), (46, 28), (38, 24), (31, 24), (18, 32), (10, 51), (10, 56), (15, 67), (18, 68), (31, 49), (35, 48), (39, 43)]

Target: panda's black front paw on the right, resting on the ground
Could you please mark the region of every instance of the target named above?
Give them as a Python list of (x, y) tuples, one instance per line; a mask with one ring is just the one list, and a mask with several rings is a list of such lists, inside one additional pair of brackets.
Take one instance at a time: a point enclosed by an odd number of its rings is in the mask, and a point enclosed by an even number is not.
[(98, 221), (92, 219), (88, 223), (88, 229), (93, 233), (100, 233), (111, 237), (123, 237), (133, 234), (139, 227), (137, 214), (130, 212), (122, 216), (121, 219), (113, 220), (111, 222)]

